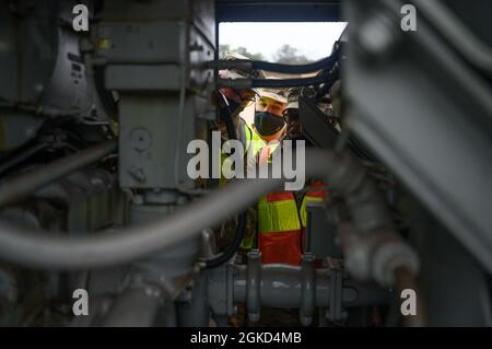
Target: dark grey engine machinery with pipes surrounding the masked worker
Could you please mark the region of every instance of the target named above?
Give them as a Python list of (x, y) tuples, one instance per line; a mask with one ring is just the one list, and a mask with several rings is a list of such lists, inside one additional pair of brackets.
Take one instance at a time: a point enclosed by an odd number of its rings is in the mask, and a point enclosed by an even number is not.
[[(400, 0), (0, 1), (0, 324), (227, 326), (268, 307), (303, 326), (490, 326), (492, 5), (411, 3), (413, 32)], [(220, 60), (219, 23), (255, 21), (349, 25), (314, 63)], [(219, 78), (234, 68), (289, 78)], [(223, 86), (300, 91), (306, 176), (331, 193), (307, 207), (300, 266), (216, 246), (282, 183), (187, 175)]]

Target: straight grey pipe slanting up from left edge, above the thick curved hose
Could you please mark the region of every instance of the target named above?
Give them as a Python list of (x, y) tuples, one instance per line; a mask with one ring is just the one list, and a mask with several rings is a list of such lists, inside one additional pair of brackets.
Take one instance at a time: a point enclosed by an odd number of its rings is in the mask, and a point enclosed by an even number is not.
[(0, 186), (0, 208), (17, 202), (37, 189), (116, 150), (116, 141), (87, 148), (10, 179)]

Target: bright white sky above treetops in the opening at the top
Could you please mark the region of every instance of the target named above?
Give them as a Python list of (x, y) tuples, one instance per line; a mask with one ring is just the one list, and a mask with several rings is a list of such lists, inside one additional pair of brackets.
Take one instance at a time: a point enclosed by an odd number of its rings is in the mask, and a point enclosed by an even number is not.
[(286, 44), (297, 56), (317, 60), (330, 55), (345, 26), (345, 22), (224, 22), (219, 26), (219, 44), (232, 49), (244, 47), (270, 61)]

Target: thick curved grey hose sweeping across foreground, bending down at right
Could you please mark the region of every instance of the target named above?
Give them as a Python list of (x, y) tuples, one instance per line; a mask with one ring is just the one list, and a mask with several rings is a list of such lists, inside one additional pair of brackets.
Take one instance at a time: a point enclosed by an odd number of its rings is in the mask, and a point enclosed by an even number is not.
[[(373, 217), (367, 217), (370, 226), (389, 225), (386, 207), (377, 196), (364, 195), (362, 200), (358, 199), (360, 193), (366, 194), (363, 188), (370, 184), (363, 175), (359, 175), (363, 173), (362, 165), (350, 154), (306, 150), (305, 161), (306, 177), (329, 176), (333, 190), (349, 198), (348, 205), (352, 216), (356, 218), (356, 225), (367, 225), (359, 211), (373, 213)], [(24, 266), (56, 269), (128, 263), (196, 237), (203, 229), (213, 226), (232, 213), (256, 202), (260, 195), (278, 190), (283, 182), (281, 178), (234, 181), (164, 220), (125, 229), (119, 233), (106, 232), (86, 236), (44, 235), (0, 222), (0, 257)]]

